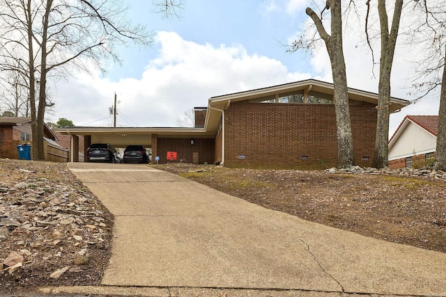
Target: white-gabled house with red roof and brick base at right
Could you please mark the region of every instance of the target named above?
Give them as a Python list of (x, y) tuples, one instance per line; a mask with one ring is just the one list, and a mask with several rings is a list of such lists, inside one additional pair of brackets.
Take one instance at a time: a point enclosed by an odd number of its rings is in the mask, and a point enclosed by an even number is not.
[(389, 168), (433, 165), (438, 115), (406, 115), (389, 141)]

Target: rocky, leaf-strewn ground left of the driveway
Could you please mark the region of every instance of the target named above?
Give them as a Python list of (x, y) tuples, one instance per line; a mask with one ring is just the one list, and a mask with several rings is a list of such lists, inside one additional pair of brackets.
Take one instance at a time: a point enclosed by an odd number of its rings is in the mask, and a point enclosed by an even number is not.
[(6, 287), (99, 282), (112, 225), (112, 214), (66, 164), (0, 159), (0, 282)]

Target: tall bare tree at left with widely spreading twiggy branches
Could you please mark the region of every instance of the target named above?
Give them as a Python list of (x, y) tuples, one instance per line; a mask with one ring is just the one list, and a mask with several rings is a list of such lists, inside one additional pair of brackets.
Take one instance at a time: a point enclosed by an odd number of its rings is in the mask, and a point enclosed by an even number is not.
[[(47, 79), (73, 70), (105, 68), (108, 58), (119, 62), (116, 45), (149, 45), (152, 35), (132, 25), (118, 0), (1, 1), (1, 70), (29, 79), (33, 159), (44, 159), (43, 123)], [(18, 61), (18, 65), (13, 63)]]

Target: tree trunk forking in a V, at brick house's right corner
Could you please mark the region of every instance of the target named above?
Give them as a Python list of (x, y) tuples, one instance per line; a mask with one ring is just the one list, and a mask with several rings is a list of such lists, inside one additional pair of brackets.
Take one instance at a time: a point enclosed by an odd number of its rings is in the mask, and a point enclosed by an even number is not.
[(390, 120), (390, 73), (394, 51), (397, 45), (399, 19), (403, 0), (395, 1), (392, 29), (389, 33), (385, 0), (378, 0), (378, 13), (381, 31), (380, 75), (378, 83), (378, 115), (374, 159), (371, 166), (384, 168), (389, 165), (389, 120)]

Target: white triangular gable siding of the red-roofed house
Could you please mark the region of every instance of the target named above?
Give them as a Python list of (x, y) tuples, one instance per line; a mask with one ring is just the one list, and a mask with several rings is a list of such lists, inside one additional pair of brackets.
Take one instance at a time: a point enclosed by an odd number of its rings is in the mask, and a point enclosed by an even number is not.
[(389, 148), (389, 160), (435, 152), (436, 143), (436, 136), (413, 122), (408, 122), (399, 138), (395, 139), (392, 147)]

